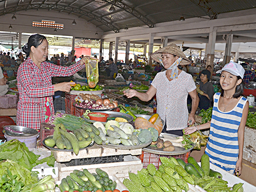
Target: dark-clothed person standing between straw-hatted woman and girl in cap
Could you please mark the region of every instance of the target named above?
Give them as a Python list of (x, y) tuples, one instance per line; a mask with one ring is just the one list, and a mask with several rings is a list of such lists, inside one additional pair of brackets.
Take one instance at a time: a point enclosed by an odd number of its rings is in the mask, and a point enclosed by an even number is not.
[(199, 82), (199, 86), (196, 86), (196, 91), (199, 96), (199, 105), (198, 107), (204, 110), (207, 110), (209, 107), (212, 107), (213, 102), (213, 94), (214, 87), (211, 82), (209, 82), (211, 78), (211, 73), (207, 69), (202, 70), (200, 74), (201, 82)]

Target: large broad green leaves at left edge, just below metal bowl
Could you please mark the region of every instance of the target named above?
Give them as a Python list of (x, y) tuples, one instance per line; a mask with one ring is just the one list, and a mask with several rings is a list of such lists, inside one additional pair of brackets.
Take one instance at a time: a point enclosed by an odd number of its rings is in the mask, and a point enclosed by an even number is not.
[(54, 166), (55, 158), (52, 154), (41, 160), (38, 160), (38, 157), (40, 155), (35, 155), (34, 152), (29, 151), (26, 144), (19, 140), (10, 140), (0, 145), (0, 160), (12, 160), (29, 170), (44, 162), (48, 162), (49, 166)]

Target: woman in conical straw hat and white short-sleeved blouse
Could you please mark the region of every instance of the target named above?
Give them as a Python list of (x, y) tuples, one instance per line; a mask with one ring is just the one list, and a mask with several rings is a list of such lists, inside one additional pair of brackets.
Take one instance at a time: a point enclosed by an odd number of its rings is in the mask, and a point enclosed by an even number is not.
[[(182, 129), (187, 127), (188, 122), (194, 124), (194, 115), (199, 103), (192, 76), (177, 67), (180, 64), (189, 65), (190, 60), (174, 43), (154, 52), (151, 57), (162, 63), (166, 71), (157, 73), (146, 93), (129, 90), (124, 95), (127, 98), (137, 96), (141, 101), (149, 101), (156, 94), (157, 113), (165, 121), (163, 132), (183, 135)], [(192, 99), (190, 115), (187, 107), (188, 94)]]

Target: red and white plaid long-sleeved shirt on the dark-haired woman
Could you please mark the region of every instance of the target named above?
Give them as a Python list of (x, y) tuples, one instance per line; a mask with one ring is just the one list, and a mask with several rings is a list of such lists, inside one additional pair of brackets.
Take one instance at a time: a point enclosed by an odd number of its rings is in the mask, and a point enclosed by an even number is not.
[(24, 61), (17, 73), (20, 100), (16, 124), (40, 129), (40, 124), (44, 121), (44, 102), (47, 97), (51, 104), (51, 115), (54, 115), (52, 77), (71, 76), (82, 68), (84, 65), (80, 65), (80, 62), (68, 67), (42, 62), (40, 70), (30, 58)]

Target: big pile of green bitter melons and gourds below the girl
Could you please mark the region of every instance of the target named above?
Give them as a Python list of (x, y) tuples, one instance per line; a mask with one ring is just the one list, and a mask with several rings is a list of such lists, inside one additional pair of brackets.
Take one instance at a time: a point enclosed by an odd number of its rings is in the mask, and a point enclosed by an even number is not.
[[(172, 192), (188, 191), (189, 185), (199, 185), (205, 191), (239, 191), (243, 183), (227, 186), (219, 172), (210, 169), (208, 155), (203, 155), (200, 167), (193, 157), (189, 157), (188, 164), (182, 159), (174, 157), (160, 157), (162, 165), (158, 169), (149, 164), (147, 169), (141, 169), (137, 174), (129, 172), (129, 179), (124, 179), (124, 185), (130, 192)], [(203, 176), (202, 176), (203, 175)]]

